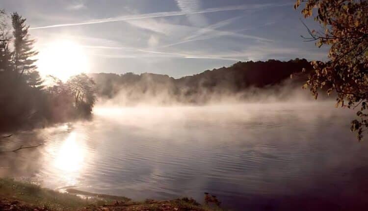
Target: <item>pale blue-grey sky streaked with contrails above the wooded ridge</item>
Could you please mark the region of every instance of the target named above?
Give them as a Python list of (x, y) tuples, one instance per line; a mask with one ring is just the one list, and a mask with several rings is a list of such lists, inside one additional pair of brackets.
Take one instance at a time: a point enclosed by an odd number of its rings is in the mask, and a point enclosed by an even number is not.
[[(237, 61), (325, 59), (326, 49), (301, 38), (308, 33), (293, 4), (294, 0), (0, 0), (7, 13), (18, 12), (27, 19), (41, 55), (50, 54), (47, 50), (55, 43), (66, 46), (60, 42), (66, 40), (82, 48), (88, 72), (149, 72), (174, 78)], [(313, 20), (305, 23), (317, 27)], [(71, 53), (61, 51), (53, 64), (70, 57), (80, 60), (78, 49), (69, 49)]]

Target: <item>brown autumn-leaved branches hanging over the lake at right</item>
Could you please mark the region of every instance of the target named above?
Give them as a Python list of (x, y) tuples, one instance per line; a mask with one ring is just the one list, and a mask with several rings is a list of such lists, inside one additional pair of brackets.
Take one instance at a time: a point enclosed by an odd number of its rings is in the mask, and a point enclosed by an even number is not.
[(352, 121), (351, 131), (358, 139), (368, 129), (368, 1), (367, 0), (297, 0), (295, 8), (305, 2), (305, 18), (315, 13), (322, 31), (310, 30), (310, 41), (318, 47), (330, 46), (329, 61), (314, 61), (313, 73), (305, 87), (315, 99), (318, 89), (337, 93), (336, 106), (356, 108), (359, 119)]

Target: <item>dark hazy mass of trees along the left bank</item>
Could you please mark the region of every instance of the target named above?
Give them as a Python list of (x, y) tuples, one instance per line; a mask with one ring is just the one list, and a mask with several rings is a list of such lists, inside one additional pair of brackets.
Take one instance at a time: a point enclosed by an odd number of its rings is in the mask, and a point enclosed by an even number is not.
[(38, 52), (28, 28), (26, 18), (0, 10), (0, 130), (89, 116), (96, 102), (93, 79), (80, 74), (63, 82), (50, 76), (52, 83), (46, 86), (35, 65)]

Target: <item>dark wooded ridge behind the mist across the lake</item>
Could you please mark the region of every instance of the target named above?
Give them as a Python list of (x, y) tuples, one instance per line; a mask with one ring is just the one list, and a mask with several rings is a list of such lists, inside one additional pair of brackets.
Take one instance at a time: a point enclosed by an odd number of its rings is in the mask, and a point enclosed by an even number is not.
[[(282, 84), (290, 79), (291, 74), (301, 73), (303, 68), (310, 72), (312, 66), (306, 59), (296, 58), (289, 61), (237, 62), (230, 67), (206, 70), (180, 79), (153, 73), (98, 73), (90, 76), (95, 79), (98, 93), (103, 98), (119, 96), (128, 104), (150, 100), (159, 104), (205, 104), (214, 96), (236, 95), (250, 88)], [(290, 80), (289, 85), (301, 87), (308, 76), (297, 75), (299, 77)]]

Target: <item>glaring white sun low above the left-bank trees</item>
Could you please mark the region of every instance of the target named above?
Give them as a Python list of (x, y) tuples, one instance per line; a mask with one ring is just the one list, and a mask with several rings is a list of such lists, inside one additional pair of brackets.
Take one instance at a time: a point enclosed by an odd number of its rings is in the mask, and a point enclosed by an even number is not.
[(87, 54), (71, 40), (55, 40), (40, 50), (37, 66), (41, 76), (52, 75), (62, 81), (89, 72)]

